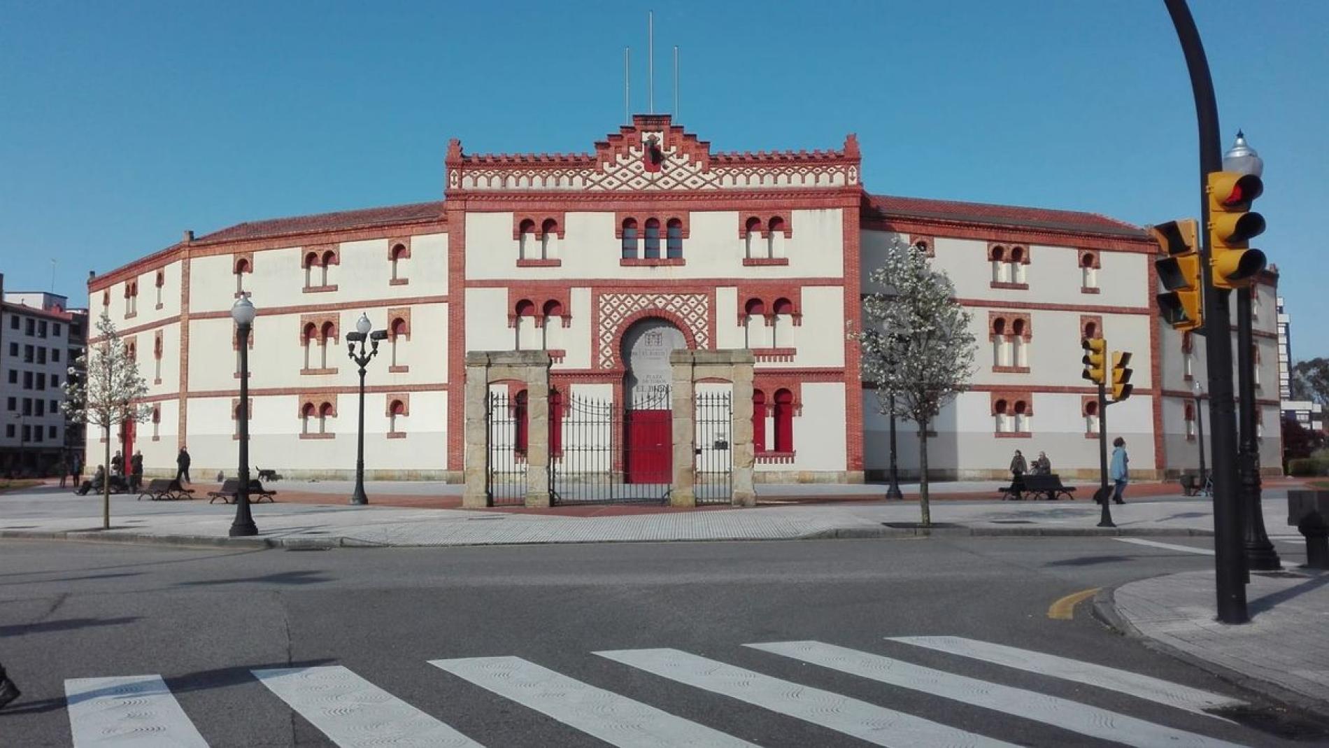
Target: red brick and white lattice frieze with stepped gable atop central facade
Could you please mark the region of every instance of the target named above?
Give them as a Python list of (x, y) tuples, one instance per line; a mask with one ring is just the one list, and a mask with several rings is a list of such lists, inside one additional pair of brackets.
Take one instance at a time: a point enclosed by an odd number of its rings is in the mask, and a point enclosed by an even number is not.
[(476, 154), (448, 145), (448, 193), (712, 191), (839, 189), (859, 185), (855, 136), (841, 150), (711, 153), (667, 114), (633, 124), (581, 154)]

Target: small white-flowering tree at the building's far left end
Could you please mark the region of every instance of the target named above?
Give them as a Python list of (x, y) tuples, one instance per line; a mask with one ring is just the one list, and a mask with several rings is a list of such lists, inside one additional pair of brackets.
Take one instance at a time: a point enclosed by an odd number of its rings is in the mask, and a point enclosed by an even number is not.
[[(100, 426), (106, 444), (106, 478), (101, 482), (101, 526), (110, 529), (110, 428), (126, 421), (146, 421), (152, 407), (142, 403), (148, 383), (138, 373), (138, 361), (129, 357), (125, 341), (106, 312), (97, 319), (97, 343), (90, 343), (65, 377), (65, 415), (90, 426)], [(82, 368), (82, 371), (78, 371)], [(129, 456), (125, 456), (129, 460)]]

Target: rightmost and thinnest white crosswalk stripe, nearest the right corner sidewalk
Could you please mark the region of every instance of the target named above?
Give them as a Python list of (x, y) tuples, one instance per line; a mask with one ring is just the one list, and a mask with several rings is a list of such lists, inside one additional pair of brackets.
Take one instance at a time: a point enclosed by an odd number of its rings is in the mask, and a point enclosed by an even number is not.
[(1035, 672), (1038, 675), (1095, 686), (1201, 715), (1208, 715), (1205, 709), (1235, 707), (1244, 703), (1209, 691), (1168, 683), (1167, 680), (1116, 670), (1115, 667), (1007, 647), (1005, 644), (979, 642), (977, 639), (964, 639), (961, 636), (889, 636), (888, 639), (890, 642), (902, 642), (916, 647), (926, 647), (940, 652), (1023, 670), (1025, 672)]

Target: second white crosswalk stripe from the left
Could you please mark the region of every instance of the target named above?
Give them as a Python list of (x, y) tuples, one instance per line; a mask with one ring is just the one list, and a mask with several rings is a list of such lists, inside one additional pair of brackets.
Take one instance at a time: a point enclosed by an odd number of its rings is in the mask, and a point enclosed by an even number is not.
[(482, 748), (480, 743), (340, 666), (251, 672), (342, 748)]

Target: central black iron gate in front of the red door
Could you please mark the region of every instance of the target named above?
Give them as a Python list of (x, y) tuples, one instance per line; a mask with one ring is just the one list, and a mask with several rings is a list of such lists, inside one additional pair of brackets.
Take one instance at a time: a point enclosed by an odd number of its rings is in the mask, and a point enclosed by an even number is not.
[[(674, 482), (670, 391), (613, 400), (560, 399), (550, 419), (550, 500), (556, 505), (664, 504)], [(554, 416), (552, 413), (552, 416)]]

